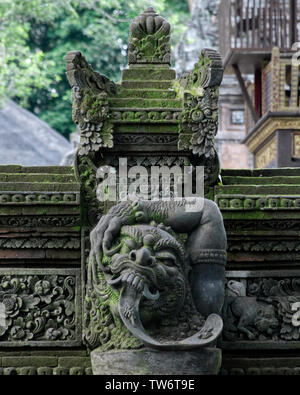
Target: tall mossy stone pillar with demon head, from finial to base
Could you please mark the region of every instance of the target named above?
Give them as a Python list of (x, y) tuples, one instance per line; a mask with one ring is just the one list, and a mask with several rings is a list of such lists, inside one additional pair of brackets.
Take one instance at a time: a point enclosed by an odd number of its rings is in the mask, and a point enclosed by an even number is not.
[[(79, 178), (89, 171), (97, 179), (99, 169), (108, 166), (111, 173), (116, 172), (119, 157), (131, 166), (144, 165), (147, 168), (151, 165), (162, 169), (166, 165), (172, 169), (181, 169), (183, 165), (191, 169), (205, 166), (206, 194), (209, 195), (219, 176), (214, 136), (218, 130), (218, 88), (223, 76), (221, 58), (214, 50), (203, 50), (194, 70), (176, 80), (175, 71), (170, 68), (169, 40), (170, 24), (152, 8), (134, 19), (130, 26), (129, 68), (123, 70), (120, 85), (94, 72), (80, 52), (67, 54), (73, 119), (81, 130), (81, 145), (75, 162)], [(120, 190), (121, 175), (117, 177)], [(127, 190), (123, 192), (127, 194)], [(164, 366), (161, 366), (161, 355), (154, 352), (151, 359), (158, 358), (160, 362), (157, 360), (151, 366), (144, 363), (144, 372), (179, 374), (183, 369), (179, 361), (189, 359), (190, 354), (186, 351), (214, 343), (223, 326), (218, 314), (224, 300), (226, 236), (222, 220), (222, 225), (219, 224), (218, 209), (211, 206), (209, 200), (204, 200), (204, 208), (193, 214), (199, 220), (191, 226), (191, 213), (183, 215), (181, 212), (184, 201), (178, 206), (170, 206), (167, 202), (146, 204), (145, 201), (137, 203), (139, 208), (123, 202), (106, 214), (107, 199), (99, 199), (99, 196), (98, 188), (86, 193), (87, 222), (93, 226), (101, 216), (91, 233), (91, 253), (87, 258), (84, 339), (91, 349), (98, 347), (92, 353), (94, 372), (101, 374), (107, 364), (115, 365), (113, 361), (119, 354), (109, 354), (108, 350), (123, 350), (122, 358), (126, 360), (124, 350), (139, 350), (144, 344), (150, 349), (170, 350), (164, 354)], [(145, 215), (144, 207), (147, 213), (145, 224), (141, 225), (141, 221), (135, 224), (131, 217)], [(203, 221), (206, 218), (212, 224), (207, 226), (215, 228), (214, 231), (202, 226), (201, 218)], [(108, 220), (117, 221), (119, 225), (111, 229)], [(169, 230), (164, 228), (168, 225)], [(164, 231), (158, 230), (160, 228)], [(203, 234), (209, 232), (215, 242), (206, 245)], [(176, 233), (189, 235), (186, 252), (184, 245), (176, 241)], [(123, 253), (119, 250), (110, 253), (110, 250), (116, 250), (116, 245), (112, 242), (110, 246), (105, 245), (105, 238), (119, 240), (117, 236), (121, 240), (129, 238), (130, 244), (139, 246), (139, 249), (130, 251), (126, 247), (128, 242), (124, 242), (124, 247), (120, 245)], [(166, 251), (173, 246), (173, 255), (168, 259), (173, 259), (175, 267), (181, 262), (176, 270), (174, 267), (169, 272), (165, 266), (163, 255), (167, 252), (164, 252), (163, 245)], [(156, 265), (158, 272), (154, 275)], [(188, 271), (192, 272), (190, 282)], [(211, 291), (208, 296), (205, 290), (209, 287), (215, 288), (215, 295)], [(149, 322), (153, 335), (143, 326)], [(178, 328), (188, 333), (186, 339)], [(182, 355), (179, 350), (183, 351)], [(217, 350), (215, 352), (216, 356), (211, 350), (210, 361), (206, 361), (203, 353), (193, 351), (194, 363), (190, 368), (186, 366), (185, 374), (217, 373), (220, 356)], [(132, 352), (128, 355), (132, 363), (128, 373), (132, 374), (138, 369), (142, 354), (138, 352), (135, 363)], [(168, 370), (174, 358), (178, 359), (179, 370)], [(215, 359), (214, 363), (211, 358)], [(208, 365), (211, 365), (210, 369), (207, 369)]]

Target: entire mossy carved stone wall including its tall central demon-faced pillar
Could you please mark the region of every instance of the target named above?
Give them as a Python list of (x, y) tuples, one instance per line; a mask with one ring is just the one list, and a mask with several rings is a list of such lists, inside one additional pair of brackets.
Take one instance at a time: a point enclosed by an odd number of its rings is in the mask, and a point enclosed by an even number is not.
[[(299, 168), (220, 168), (222, 59), (176, 79), (169, 33), (151, 8), (132, 21), (120, 84), (69, 52), (73, 166), (0, 166), (1, 374), (300, 372)], [(127, 200), (151, 166), (170, 189)], [(204, 180), (188, 216), (185, 167)]]

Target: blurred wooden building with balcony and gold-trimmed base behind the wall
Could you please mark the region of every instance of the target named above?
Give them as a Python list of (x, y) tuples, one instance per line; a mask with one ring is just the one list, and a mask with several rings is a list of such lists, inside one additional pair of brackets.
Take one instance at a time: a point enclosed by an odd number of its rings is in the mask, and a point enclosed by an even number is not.
[(220, 4), (220, 52), (247, 104), (244, 142), (256, 168), (300, 166), (299, 12), (299, 0)]

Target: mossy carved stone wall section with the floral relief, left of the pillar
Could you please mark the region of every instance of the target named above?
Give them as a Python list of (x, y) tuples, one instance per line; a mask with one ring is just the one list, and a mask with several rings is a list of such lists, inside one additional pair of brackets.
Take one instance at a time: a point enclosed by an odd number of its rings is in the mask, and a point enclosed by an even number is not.
[(91, 373), (81, 239), (71, 167), (0, 166), (0, 375)]

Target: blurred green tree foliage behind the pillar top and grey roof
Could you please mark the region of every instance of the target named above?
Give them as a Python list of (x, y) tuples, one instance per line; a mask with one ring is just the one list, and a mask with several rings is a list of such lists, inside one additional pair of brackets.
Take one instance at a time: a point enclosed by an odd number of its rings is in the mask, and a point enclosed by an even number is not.
[(176, 42), (189, 17), (186, 0), (1, 0), (0, 98), (68, 136), (75, 126), (64, 56), (80, 50), (95, 70), (120, 81), (130, 21), (149, 5), (171, 23)]

